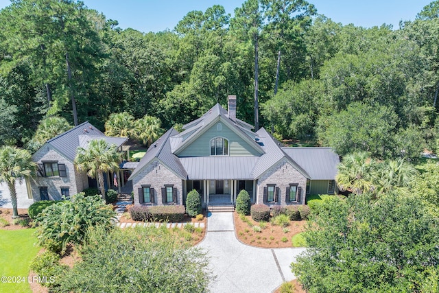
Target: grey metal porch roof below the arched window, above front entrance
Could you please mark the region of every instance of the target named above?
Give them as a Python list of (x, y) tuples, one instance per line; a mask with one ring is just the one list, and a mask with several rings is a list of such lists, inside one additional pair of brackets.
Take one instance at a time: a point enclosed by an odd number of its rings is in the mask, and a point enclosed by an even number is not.
[(257, 156), (198, 156), (180, 158), (189, 180), (253, 179)]

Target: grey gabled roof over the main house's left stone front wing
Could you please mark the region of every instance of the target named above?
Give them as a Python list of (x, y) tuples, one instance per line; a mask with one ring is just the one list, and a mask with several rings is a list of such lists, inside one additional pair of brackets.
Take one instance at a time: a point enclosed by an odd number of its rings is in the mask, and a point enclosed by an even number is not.
[(132, 172), (128, 180), (131, 180), (132, 178), (137, 176), (137, 174), (139, 174), (141, 170), (147, 167), (147, 165), (149, 165), (154, 159), (158, 159), (159, 161), (161, 161), (169, 168), (169, 170), (174, 172), (180, 178), (186, 179), (187, 172), (185, 170), (185, 167), (182, 166), (180, 160), (178, 160), (178, 157), (171, 152), (169, 137), (176, 134), (178, 134), (178, 131), (174, 128), (171, 128), (167, 130), (167, 132), (163, 134), (159, 139), (154, 141), (154, 143), (150, 145), (150, 148), (148, 148), (145, 156), (143, 156), (143, 158), (139, 162), (139, 165), (137, 165), (137, 168), (134, 169), (134, 172)]

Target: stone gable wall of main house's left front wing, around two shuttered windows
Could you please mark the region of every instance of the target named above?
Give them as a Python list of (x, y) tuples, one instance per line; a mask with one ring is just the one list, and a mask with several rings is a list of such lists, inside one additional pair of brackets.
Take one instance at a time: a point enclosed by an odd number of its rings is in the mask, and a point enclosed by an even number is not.
[(139, 204), (139, 188), (142, 185), (150, 185), (155, 191), (154, 205), (163, 205), (161, 189), (165, 185), (174, 185), (177, 189), (177, 204), (183, 204), (182, 179), (171, 172), (165, 165), (158, 161), (152, 161), (137, 176), (132, 179), (132, 189), (134, 191), (134, 204)]

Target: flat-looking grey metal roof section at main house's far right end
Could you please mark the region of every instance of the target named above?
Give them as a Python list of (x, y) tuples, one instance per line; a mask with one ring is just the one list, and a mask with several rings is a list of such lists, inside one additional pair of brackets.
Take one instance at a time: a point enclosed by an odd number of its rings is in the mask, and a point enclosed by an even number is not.
[(334, 180), (340, 159), (331, 148), (282, 148), (313, 180)]

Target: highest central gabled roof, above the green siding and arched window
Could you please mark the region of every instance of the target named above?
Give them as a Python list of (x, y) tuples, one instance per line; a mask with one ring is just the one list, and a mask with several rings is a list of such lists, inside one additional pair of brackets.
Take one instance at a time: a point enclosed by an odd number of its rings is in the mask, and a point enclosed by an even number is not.
[[(250, 131), (250, 124), (241, 121), (239, 119), (229, 119), (227, 111), (222, 108), (222, 106), (217, 103), (209, 111), (207, 111), (202, 117), (192, 121), (189, 124), (183, 126), (185, 131), (175, 135), (171, 138), (171, 149), (172, 152), (178, 154), (181, 150), (184, 150), (189, 146), (195, 139), (200, 137), (201, 134), (209, 130), (210, 126), (215, 124), (216, 121), (222, 121), (231, 130), (233, 130), (239, 137), (244, 139), (252, 148), (263, 154), (263, 149), (254, 140), (257, 138), (257, 132)], [(250, 127), (249, 127), (250, 126)]]

